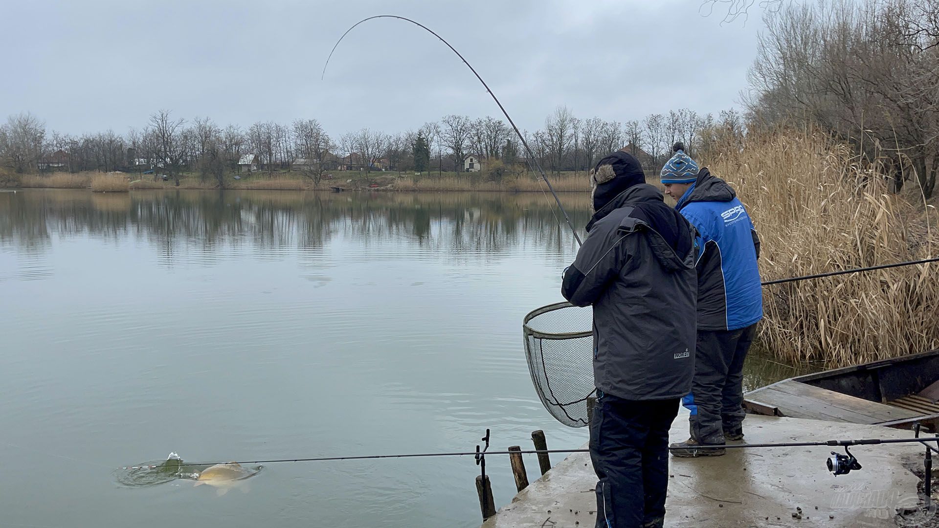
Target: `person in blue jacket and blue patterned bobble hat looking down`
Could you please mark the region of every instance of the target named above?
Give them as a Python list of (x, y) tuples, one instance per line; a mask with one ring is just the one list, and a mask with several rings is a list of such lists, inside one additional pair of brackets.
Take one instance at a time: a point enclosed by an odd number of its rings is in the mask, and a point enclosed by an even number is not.
[(742, 440), (743, 370), (747, 350), (762, 319), (762, 287), (757, 258), (760, 239), (747, 210), (723, 179), (685, 154), (662, 168), (665, 193), (698, 230), (698, 342), (691, 394), (683, 404), (691, 412), (691, 438), (672, 444), (676, 457), (723, 455), (724, 449), (696, 449), (699, 444)]

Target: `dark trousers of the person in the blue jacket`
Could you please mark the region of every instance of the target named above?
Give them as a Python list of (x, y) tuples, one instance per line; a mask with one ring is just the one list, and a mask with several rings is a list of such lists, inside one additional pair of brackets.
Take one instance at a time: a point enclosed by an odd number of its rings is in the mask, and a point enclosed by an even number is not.
[(757, 325), (740, 330), (699, 331), (695, 378), (683, 400), (691, 411), (691, 438), (724, 443), (724, 431), (740, 427), (744, 417), (744, 360)]

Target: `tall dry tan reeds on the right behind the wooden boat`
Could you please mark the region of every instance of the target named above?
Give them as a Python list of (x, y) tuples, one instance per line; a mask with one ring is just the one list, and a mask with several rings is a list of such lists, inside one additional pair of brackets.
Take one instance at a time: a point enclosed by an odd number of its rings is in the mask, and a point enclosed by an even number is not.
[[(876, 168), (822, 135), (753, 139), (709, 166), (753, 216), (763, 280), (935, 254), (935, 211), (890, 194)], [(763, 303), (760, 337), (786, 361), (854, 365), (939, 347), (936, 264), (764, 287)]]

